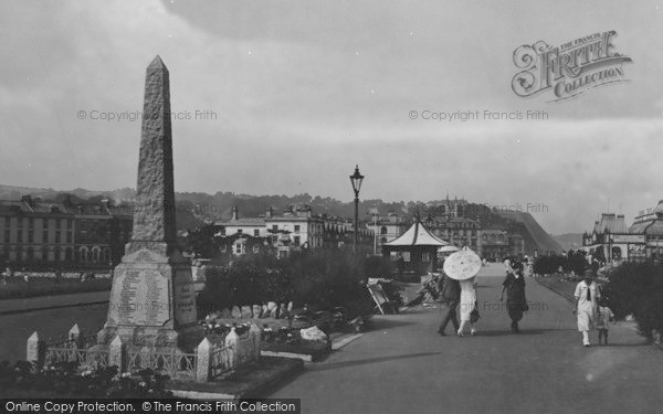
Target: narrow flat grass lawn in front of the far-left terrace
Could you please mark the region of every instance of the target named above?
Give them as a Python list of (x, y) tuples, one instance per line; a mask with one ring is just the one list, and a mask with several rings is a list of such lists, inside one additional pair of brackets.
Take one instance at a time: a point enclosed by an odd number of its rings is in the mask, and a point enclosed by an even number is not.
[(0, 299), (110, 290), (110, 278), (85, 282), (61, 279), (60, 283), (56, 283), (55, 279), (50, 277), (31, 277), (30, 282), (27, 283), (22, 278), (12, 277), (7, 279), (7, 285), (0, 283)]

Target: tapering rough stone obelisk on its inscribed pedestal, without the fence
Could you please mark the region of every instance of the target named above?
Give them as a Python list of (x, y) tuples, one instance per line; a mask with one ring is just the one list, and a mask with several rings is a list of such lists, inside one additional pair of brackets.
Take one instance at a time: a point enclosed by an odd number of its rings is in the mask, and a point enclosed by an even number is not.
[(147, 67), (131, 240), (115, 268), (108, 316), (97, 335), (128, 346), (191, 349), (200, 339), (191, 267), (176, 245), (168, 70)]

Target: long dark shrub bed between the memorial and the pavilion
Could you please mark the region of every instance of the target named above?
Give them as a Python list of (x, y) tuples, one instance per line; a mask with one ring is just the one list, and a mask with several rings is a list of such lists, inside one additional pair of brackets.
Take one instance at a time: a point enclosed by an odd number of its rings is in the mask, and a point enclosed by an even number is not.
[[(198, 304), (200, 315), (231, 306), (294, 301), (312, 310), (337, 306), (364, 309), (370, 300), (366, 278), (388, 265), (345, 251), (294, 254), (276, 259), (269, 254), (246, 255), (227, 268), (208, 270)], [(368, 301), (370, 304), (370, 301)]]

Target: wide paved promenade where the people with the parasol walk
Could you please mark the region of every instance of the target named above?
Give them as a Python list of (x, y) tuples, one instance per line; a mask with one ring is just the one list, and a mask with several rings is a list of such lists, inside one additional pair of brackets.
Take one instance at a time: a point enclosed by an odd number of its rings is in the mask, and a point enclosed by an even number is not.
[(572, 305), (527, 279), (532, 309), (512, 335), (502, 279), (502, 266), (480, 274), (478, 336), (438, 336), (436, 310), (376, 317), (272, 396), (302, 399), (303, 413), (660, 412), (663, 351), (631, 323), (611, 326), (611, 344), (583, 348)]

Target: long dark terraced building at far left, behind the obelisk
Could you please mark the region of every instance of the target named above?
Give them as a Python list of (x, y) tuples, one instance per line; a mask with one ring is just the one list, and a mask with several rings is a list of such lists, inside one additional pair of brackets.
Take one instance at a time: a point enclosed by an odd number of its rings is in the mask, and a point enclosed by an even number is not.
[(0, 201), (0, 263), (27, 269), (107, 269), (131, 235), (131, 208), (109, 202)]

